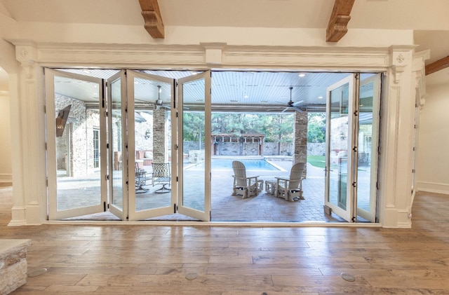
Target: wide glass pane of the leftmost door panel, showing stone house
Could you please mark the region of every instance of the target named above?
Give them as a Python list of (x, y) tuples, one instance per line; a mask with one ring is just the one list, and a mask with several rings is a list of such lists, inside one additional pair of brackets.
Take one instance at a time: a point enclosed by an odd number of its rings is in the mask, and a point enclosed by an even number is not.
[(54, 81), (57, 210), (100, 205), (98, 83), (62, 76)]

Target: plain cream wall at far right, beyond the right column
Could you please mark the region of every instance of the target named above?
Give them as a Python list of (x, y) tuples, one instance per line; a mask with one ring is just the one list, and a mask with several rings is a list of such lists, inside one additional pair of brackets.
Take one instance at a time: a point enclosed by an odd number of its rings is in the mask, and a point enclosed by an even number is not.
[(449, 193), (449, 84), (427, 85), (421, 111), (418, 190)]

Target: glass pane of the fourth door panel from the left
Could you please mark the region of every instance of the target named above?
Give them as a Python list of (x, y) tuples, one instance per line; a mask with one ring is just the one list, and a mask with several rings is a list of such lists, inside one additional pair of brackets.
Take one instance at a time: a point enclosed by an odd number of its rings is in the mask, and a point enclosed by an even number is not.
[[(195, 104), (194, 109), (182, 110), (182, 205), (204, 212), (205, 210), (205, 80), (182, 84), (182, 102)], [(207, 140), (210, 140), (207, 139)]]

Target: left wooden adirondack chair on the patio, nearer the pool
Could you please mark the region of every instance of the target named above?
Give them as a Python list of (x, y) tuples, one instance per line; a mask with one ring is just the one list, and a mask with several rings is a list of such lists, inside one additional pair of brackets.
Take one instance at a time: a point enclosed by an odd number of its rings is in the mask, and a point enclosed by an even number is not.
[(262, 191), (264, 181), (257, 179), (258, 176), (246, 177), (246, 167), (243, 163), (233, 161), (232, 169), (234, 170), (232, 195), (242, 195), (242, 198), (248, 198)]

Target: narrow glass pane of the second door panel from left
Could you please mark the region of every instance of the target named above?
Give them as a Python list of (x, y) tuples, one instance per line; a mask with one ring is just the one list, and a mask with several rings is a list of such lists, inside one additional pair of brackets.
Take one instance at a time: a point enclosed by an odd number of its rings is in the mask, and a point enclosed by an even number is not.
[(123, 210), (123, 157), (126, 155), (122, 151), (122, 124), (121, 115), (121, 81), (113, 81), (111, 87), (111, 143), (109, 149), (112, 151), (112, 192), (111, 204)]

